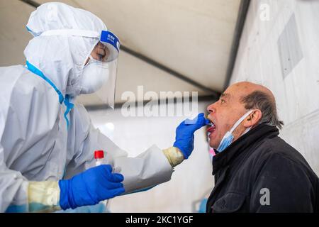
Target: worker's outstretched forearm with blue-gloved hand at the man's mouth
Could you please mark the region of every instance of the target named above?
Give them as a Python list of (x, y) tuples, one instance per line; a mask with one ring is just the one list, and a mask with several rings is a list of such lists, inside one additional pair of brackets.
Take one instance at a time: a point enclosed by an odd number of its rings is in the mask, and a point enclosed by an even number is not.
[(181, 122), (172, 148), (160, 150), (153, 145), (138, 157), (116, 158), (114, 166), (119, 167), (124, 175), (125, 193), (167, 182), (171, 178), (172, 167), (191, 155), (194, 149), (194, 132), (206, 123), (208, 120), (203, 114), (199, 114), (194, 120)]

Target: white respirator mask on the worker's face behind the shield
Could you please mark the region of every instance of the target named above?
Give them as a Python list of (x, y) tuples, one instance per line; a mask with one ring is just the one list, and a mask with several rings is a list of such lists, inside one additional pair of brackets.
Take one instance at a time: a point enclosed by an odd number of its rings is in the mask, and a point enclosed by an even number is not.
[(98, 91), (109, 77), (108, 63), (95, 60), (90, 55), (89, 62), (84, 66), (80, 94), (91, 94)]

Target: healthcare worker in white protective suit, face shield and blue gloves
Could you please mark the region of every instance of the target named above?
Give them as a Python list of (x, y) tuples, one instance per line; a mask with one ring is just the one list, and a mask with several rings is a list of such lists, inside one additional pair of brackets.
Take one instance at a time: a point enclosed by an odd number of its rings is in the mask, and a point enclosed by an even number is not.
[[(208, 123), (203, 114), (177, 127), (172, 148), (127, 157), (74, 103), (95, 93), (111, 106), (116, 35), (94, 14), (62, 3), (39, 6), (27, 29), (34, 38), (26, 65), (0, 67), (0, 211), (76, 209), (171, 179)], [(103, 165), (95, 166), (94, 150), (106, 152)]]

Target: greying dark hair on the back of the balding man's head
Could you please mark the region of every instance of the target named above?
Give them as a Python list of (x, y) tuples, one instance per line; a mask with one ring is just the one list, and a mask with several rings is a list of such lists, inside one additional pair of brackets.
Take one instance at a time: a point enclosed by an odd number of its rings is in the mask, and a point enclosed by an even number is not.
[(267, 123), (269, 126), (282, 128), (283, 121), (279, 121), (276, 111), (276, 102), (271, 96), (261, 91), (254, 91), (241, 99), (246, 109), (259, 109), (262, 111), (260, 123)]

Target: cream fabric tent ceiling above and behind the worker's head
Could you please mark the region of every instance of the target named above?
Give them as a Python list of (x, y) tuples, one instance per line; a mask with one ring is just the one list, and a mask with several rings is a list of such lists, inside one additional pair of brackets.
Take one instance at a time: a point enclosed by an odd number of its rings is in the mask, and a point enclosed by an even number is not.
[[(46, 0), (33, 0), (42, 4)], [(125, 91), (222, 92), (235, 34), (240, 0), (65, 0), (99, 16), (121, 40), (121, 46), (181, 74), (164, 72), (121, 51), (116, 102)], [(31, 35), (26, 23), (34, 7), (23, 1), (0, 0), (0, 66), (24, 64), (23, 50)], [(190, 79), (190, 81), (187, 81)], [(192, 83), (195, 82), (195, 83)], [(199, 84), (199, 85), (198, 85)], [(208, 88), (208, 89), (206, 89)], [(139, 98), (138, 98), (139, 99)], [(94, 96), (80, 97), (86, 105)]]

